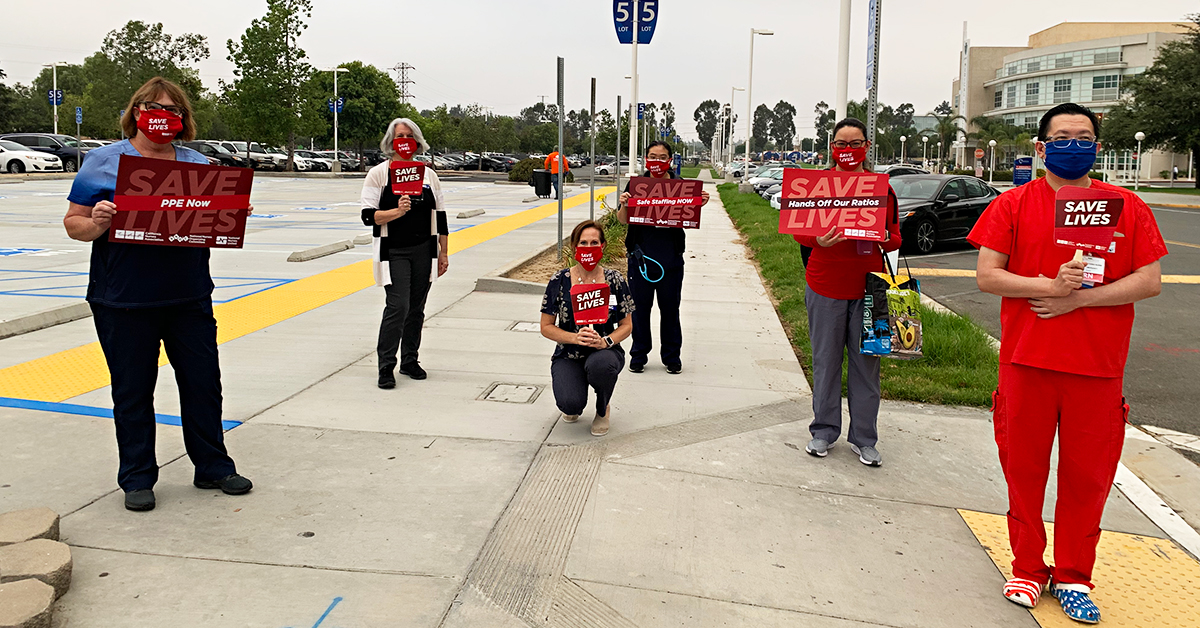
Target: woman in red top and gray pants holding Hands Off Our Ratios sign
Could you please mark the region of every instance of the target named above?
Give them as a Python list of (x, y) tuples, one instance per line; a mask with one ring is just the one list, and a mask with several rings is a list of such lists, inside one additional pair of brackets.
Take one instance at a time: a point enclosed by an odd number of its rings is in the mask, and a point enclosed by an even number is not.
[[(866, 125), (846, 118), (834, 126), (833, 162), (838, 171), (866, 172)], [(888, 240), (884, 251), (900, 249), (900, 226), (895, 195), (888, 190)], [(858, 459), (869, 466), (883, 463), (875, 449), (880, 414), (880, 358), (858, 353), (863, 334), (863, 295), (866, 275), (883, 270), (883, 258), (875, 243), (847, 240), (838, 229), (821, 237), (796, 235), (796, 241), (812, 249), (805, 269), (808, 288), (804, 305), (809, 311), (809, 339), (812, 342), (812, 441), (804, 448), (824, 456), (841, 436), (841, 355), (850, 359), (847, 397), (850, 431), (846, 439)]]

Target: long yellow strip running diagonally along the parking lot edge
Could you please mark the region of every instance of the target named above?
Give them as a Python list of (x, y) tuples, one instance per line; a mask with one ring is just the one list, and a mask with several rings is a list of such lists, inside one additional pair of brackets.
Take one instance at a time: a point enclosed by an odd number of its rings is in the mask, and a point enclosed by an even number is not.
[[(594, 193), (601, 197), (614, 190), (611, 186), (600, 187)], [(589, 198), (587, 193), (576, 195), (565, 199), (563, 207), (570, 209), (587, 203)], [(557, 211), (557, 202), (546, 203), (462, 229), (450, 235), (450, 255), (538, 222)], [(364, 259), (216, 305), (212, 312), (217, 319), (217, 343), (265, 329), (372, 285), (371, 261)], [(158, 365), (166, 364), (166, 354), (160, 355)], [(108, 384), (108, 366), (98, 342), (0, 370), (0, 397), (61, 402)]]

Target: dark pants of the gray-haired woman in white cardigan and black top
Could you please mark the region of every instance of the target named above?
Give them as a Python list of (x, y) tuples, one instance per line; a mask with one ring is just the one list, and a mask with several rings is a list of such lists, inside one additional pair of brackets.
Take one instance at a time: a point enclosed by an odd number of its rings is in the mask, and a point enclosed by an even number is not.
[(391, 286), (384, 286), (388, 295), (379, 323), (379, 372), (390, 373), (396, 369), (396, 351), (400, 364), (416, 364), (421, 348), (421, 328), (425, 327), (425, 299), (430, 295), (430, 273), (433, 258), (430, 245), (419, 244), (389, 251), (388, 267)]

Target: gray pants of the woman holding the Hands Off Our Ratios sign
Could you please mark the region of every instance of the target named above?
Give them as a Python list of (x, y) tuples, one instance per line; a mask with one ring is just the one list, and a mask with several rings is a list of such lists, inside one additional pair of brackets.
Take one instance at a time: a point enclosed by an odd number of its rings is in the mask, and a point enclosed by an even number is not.
[(863, 335), (863, 299), (822, 297), (805, 288), (809, 311), (809, 340), (812, 342), (814, 438), (833, 443), (841, 436), (841, 358), (850, 358), (847, 397), (850, 432), (846, 439), (858, 447), (875, 447), (875, 424), (880, 417), (880, 358), (858, 353)]

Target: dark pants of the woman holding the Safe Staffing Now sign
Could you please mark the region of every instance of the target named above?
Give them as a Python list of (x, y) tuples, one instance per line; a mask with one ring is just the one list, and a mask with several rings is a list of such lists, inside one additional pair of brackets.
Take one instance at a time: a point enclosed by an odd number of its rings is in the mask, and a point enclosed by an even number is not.
[[(650, 277), (659, 268), (650, 264)], [(629, 363), (644, 365), (654, 337), (650, 334), (650, 310), (654, 307), (654, 295), (659, 297), (659, 354), (666, 366), (678, 366), (679, 351), (683, 347), (683, 329), (679, 327), (679, 300), (683, 293), (683, 267), (668, 268), (662, 280), (656, 283), (646, 281), (637, 267), (629, 264), (629, 292), (634, 295), (634, 346), (629, 349)]]

